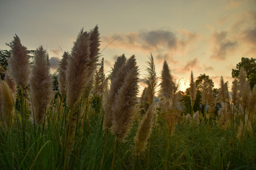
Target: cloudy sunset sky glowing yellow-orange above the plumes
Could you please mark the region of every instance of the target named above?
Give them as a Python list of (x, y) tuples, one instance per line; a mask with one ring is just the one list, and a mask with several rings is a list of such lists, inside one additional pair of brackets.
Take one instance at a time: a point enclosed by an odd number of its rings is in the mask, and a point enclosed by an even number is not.
[(191, 71), (230, 86), (241, 58), (256, 58), (256, 0), (0, 0), (0, 49), (15, 34), (28, 50), (43, 45), (52, 73), (80, 30), (96, 25), (107, 74), (134, 54), (142, 79), (151, 52), (157, 76), (166, 60), (182, 91)]

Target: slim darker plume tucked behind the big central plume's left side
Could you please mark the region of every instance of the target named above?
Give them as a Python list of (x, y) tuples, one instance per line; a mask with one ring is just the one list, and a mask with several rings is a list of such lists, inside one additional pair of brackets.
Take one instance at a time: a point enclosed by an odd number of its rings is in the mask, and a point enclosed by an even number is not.
[(126, 57), (125, 55), (121, 55), (118, 57), (117, 61), (114, 64), (114, 68), (112, 68), (112, 74), (110, 76), (110, 91), (105, 96), (104, 100), (104, 119), (103, 119), (103, 129), (110, 129), (112, 126), (112, 107), (115, 101), (116, 93), (119, 88), (124, 83), (124, 76), (126, 75), (125, 68), (127, 67)]

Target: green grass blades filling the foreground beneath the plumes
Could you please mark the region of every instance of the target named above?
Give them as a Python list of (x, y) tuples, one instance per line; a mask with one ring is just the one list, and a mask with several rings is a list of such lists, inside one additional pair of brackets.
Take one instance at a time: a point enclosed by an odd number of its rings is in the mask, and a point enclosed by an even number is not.
[[(58, 108), (48, 111), (41, 127), (27, 118), (19, 121), (21, 109), (16, 109), (11, 129), (0, 127), (0, 170), (100, 170), (106, 140), (106, 132), (102, 130), (101, 97), (94, 96), (85, 105), (87, 110), (80, 111), (77, 119), (72, 151), (67, 151), (64, 145), (67, 107), (64, 106), (62, 117)], [(166, 153), (169, 132), (165, 121), (157, 117), (150, 137), (150, 151), (146, 149), (143, 155), (135, 157), (134, 136), (138, 123), (139, 120), (134, 120), (126, 142), (117, 146), (115, 170), (161, 170), (165, 169), (166, 160), (168, 170), (256, 168), (255, 130), (240, 145), (231, 128), (224, 132), (215, 123), (201, 122), (196, 126), (180, 122)], [(111, 166), (115, 145), (115, 136), (111, 133), (106, 144), (102, 170), (109, 170)]]

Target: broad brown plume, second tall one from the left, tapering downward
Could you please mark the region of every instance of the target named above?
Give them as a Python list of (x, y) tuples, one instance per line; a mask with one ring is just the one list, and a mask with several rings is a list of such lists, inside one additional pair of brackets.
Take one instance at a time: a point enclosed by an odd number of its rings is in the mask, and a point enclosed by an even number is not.
[(39, 46), (35, 51), (29, 84), (34, 118), (37, 124), (41, 125), (44, 121), (46, 110), (54, 97), (47, 53), (43, 46)]

